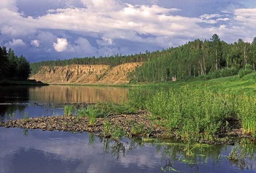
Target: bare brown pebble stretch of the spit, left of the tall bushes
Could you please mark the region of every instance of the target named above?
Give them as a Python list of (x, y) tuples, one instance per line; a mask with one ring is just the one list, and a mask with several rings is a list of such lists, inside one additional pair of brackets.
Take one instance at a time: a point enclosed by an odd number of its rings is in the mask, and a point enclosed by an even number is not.
[[(149, 112), (142, 110), (137, 114), (122, 114), (122, 115), (110, 115), (107, 118), (96, 118), (93, 126), (89, 125), (89, 119), (87, 117), (80, 117), (76, 119), (74, 116), (53, 116), (53, 117), (36, 117), (28, 119), (15, 119), (7, 122), (0, 122), (0, 126), (10, 128), (18, 127), (22, 129), (41, 129), (43, 131), (77, 131), (77, 132), (93, 132), (102, 133), (104, 129), (104, 122), (108, 119), (112, 126), (121, 126), (126, 132), (127, 136), (130, 136), (131, 124), (143, 124), (141, 134), (137, 136), (143, 136), (146, 132), (150, 133), (150, 136), (160, 137), (163, 129), (159, 127), (152, 129), (152, 123), (148, 119)], [(143, 134), (142, 134), (143, 133)]]

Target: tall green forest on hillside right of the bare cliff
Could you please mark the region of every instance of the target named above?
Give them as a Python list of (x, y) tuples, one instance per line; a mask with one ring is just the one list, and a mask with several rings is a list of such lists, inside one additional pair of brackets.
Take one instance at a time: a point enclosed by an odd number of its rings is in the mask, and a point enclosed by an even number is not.
[(171, 47), (163, 56), (149, 58), (130, 74), (133, 82), (166, 82), (202, 77), (212, 79), (255, 70), (256, 37), (253, 42), (228, 44), (214, 34), (210, 40), (194, 40)]

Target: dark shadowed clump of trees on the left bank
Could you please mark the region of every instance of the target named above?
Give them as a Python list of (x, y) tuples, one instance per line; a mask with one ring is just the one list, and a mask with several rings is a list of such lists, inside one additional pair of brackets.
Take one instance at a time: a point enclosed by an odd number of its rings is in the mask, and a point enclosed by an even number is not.
[(30, 63), (25, 56), (18, 57), (12, 49), (0, 47), (0, 78), (24, 80), (30, 74)]

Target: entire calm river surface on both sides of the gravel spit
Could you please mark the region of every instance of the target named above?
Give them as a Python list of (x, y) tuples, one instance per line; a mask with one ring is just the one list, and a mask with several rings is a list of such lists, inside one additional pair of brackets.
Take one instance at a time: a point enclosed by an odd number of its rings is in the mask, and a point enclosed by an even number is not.
[[(111, 94), (109, 94), (111, 92)], [(58, 105), (3, 103), (75, 103), (112, 98), (118, 102), (126, 88), (92, 86), (0, 87), (0, 121), (10, 118), (62, 115)], [(125, 99), (125, 97), (123, 97)], [(15, 114), (14, 117), (9, 115)], [(211, 145), (187, 157), (184, 144), (142, 143), (141, 139), (112, 141), (94, 134), (0, 128), (0, 173), (181, 173), (256, 172), (256, 145)], [(237, 149), (237, 161), (229, 161)], [(170, 170), (169, 170), (170, 166)], [(173, 171), (171, 171), (173, 172)]]

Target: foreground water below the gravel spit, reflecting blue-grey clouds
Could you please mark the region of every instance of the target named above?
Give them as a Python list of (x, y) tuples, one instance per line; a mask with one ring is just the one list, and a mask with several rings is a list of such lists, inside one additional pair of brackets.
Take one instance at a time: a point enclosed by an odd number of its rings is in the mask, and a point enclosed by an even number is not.
[(0, 128), (0, 136), (0, 173), (256, 171), (255, 143), (251, 141), (237, 144), (239, 154), (234, 156), (249, 163), (244, 166), (229, 159), (235, 150), (230, 145), (198, 145), (193, 154), (187, 154), (185, 144), (145, 143), (137, 138), (115, 141), (93, 133)]

